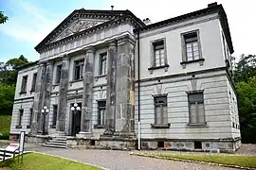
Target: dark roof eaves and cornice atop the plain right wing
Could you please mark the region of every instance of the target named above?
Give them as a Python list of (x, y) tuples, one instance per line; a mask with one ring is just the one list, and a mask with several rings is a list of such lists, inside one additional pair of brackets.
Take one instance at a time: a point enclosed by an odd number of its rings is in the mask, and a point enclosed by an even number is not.
[(148, 26), (141, 26), (138, 27), (134, 30), (134, 32), (144, 32), (144, 31), (148, 31), (148, 30), (153, 30), (159, 27), (163, 27), (163, 26), (170, 26), (170, 25), (174, 25), (176, 23), (180, 23), (180, 22), (184, 22), (187, 20), (191, 20), (193, 18), (198, 18), (198, 17), (202, 17), (202, 16), (206, 16), (212, 13), (218, 13), (219, 14), (219, 19), (220, 19), (220, 23), (221, 26), (223, 28), (223, 32), (225, 34), (227, 43), (229, 45), (229, 50), (230, 53), (233, 53), (233, 45), (232, 45), (232, 40), (231, 40), (231, 36), (230, 36), (230, 32), (229, 32), (229, 23), (228, 23), (228, 18), (226, 15), (226, 12), (224, 10), (224, 8), (222, 7), (222, 5), (217, 5), (216, 3), (212, 3), (209, 5), (208, 8), (203, 8), (200, 10), (196, 10), (184, 15), (180, 15), (174, 18), (170, 18), (164, 21), (160, 21), (157, 23), (154, 23), (152, 25), (148, 25)]

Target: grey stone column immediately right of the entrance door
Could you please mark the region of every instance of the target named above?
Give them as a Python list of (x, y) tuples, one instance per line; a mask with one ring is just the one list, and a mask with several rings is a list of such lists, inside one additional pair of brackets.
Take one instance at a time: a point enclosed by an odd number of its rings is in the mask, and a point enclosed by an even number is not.
[(81, 115), (81, 137), (90, 137), (91, 118), (92, 118), (92, 100), (94, 85), (94, 49), (86, 49), (83, 69), (83, 90), (82, 90), (82, 115)]

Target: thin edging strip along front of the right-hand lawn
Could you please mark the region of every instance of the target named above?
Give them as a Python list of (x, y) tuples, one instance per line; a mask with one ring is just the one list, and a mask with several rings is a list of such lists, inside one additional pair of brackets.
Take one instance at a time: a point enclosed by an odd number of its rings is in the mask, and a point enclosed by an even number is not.
[(215, 163), (215, 162), (210, 162), (210, 161), (192, 161), (192, 160), (171, 158), (171, 157), (166, 157), (166, 156), (156, 155), (156, 154), (136, 153), (136, 155), (137, 155), (137, 156), (141, 156), (141, 157), (151, 157), (151, 158), (162, 159), (162, 160), (195, 162), (195, 163), (204, 163), (204, 164), (218, 165), (218, 166), (231, 167), (231, 168), (238, 168), (238, 169), (256, 170), (256, 168), (252, 168), (252, 167), (244, 167), (244, 166), (231, 165), (231, 164), (222, 164), (222, 163)]

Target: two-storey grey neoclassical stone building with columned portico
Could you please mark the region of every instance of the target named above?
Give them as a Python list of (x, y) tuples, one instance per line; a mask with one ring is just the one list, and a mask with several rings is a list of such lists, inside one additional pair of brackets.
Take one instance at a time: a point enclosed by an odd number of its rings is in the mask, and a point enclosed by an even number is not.
[[(222, 5), (150, 24), (74, 10), (18, 73), (11, 137), (67, 145), (235, 151), (233, 46)], [(44, 141), (45, 140), (45, 141)]]

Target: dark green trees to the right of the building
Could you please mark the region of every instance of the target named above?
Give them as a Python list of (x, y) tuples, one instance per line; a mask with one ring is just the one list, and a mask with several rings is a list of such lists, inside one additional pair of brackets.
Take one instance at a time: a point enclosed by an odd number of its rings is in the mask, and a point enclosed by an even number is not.
[(242, 56), (234, 71), (243, 143), (256, 144), (256, 56)]

